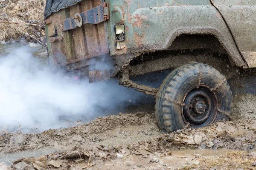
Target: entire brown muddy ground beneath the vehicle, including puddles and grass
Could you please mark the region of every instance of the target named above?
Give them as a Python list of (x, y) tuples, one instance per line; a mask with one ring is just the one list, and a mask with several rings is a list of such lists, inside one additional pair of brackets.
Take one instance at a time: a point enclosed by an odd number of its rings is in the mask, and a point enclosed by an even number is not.
[[(42, 133), (3, 133), (0, 169), (256, 169), (256, 96), (234, 98), (233, 121), (163, 134), (153, 113), (99, 117)], [(34, 156), (34, 157), (30, 157)], [(17, 160), (16, 160), (17, 159)]]

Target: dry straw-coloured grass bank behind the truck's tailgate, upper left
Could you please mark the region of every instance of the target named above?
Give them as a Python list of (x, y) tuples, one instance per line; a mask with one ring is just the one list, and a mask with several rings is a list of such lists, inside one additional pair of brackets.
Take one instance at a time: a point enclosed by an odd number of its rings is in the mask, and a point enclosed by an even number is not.
[(39, 38), (44, 5), (45, 0), (0, 0), (0, 40), (17, 39), (25, 33)]

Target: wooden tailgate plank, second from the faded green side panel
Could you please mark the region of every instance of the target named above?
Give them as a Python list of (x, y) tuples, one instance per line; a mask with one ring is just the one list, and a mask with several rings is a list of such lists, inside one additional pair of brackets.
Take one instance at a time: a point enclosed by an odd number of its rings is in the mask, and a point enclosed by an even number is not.
[[(93, 8), (93, 0), (86, 0), (81, 3), (81, 10), (87, 11)], [(88, 54), (96, 54), (100, 52), (99, 35), (97, 25), (85, 24), (84, 25), (85, 37), (87, 42)]]

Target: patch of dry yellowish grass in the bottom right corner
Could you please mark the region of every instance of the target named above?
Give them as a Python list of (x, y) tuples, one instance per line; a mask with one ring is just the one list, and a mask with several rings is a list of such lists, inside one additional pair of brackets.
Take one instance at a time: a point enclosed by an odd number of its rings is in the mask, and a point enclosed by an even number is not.
[(256, 156), (245, 152), (230, 152), (216, 159), (204, 159), (199, 166), (184, 167), (183, 170), (255, 170), (253, 163), (256, 163)]

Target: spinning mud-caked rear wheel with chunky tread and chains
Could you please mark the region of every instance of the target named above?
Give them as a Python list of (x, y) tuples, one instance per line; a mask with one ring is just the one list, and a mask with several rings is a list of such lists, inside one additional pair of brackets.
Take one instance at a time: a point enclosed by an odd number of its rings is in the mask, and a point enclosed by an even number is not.
[(185, 125), (197, 128), (230, 119), (231, 111), (232, 92), (225, 77), (196, 62), (172, 71), (156, 96), (157, 124), (167, 133)]

